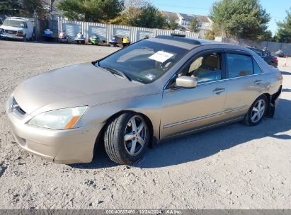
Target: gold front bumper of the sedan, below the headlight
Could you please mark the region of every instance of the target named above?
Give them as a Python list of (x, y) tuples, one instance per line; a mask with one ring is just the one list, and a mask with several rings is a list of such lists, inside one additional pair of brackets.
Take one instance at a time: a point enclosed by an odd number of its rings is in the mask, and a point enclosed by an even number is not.
[(45, 129), (27, 124), (31, 116), (11, 111), (12, 101), (6, 103), (6, 113), (13, 136), (26, 151), (55, 163), (89, 163), (98, 133), (103, 124), (76, 129)]

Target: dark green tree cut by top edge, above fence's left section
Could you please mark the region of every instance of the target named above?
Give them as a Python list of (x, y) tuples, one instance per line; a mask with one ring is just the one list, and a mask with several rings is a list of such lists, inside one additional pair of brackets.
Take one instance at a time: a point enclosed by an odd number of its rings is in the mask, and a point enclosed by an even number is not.
[(64, 0), (58, 8), (70, 20), (101, 22), (109, 21), (123, 10), (122, 0)]

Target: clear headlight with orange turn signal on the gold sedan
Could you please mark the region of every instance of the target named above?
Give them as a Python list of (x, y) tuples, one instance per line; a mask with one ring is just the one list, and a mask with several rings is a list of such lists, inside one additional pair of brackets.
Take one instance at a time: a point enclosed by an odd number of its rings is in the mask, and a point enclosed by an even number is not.
[(48, 129), (72, 129), (87, 109), (84, 106), (43, 112), (33, 117), (28, 124)]

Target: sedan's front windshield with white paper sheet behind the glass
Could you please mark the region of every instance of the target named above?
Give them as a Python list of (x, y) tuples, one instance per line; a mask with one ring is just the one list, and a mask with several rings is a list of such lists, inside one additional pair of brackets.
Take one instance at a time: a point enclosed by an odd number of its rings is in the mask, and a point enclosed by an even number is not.
[(132, 81), (152, 83), (187, 52), (181, 47), (142, 40), (106, 57), (98, 66), (120, 71)]

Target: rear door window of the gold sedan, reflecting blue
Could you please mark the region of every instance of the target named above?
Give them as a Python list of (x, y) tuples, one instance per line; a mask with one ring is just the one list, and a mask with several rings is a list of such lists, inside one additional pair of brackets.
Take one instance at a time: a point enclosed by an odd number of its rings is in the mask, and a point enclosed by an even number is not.
[(244, 54), (227, 53), (228, 78), (236, 78), (253, 74), (253, 59)]

